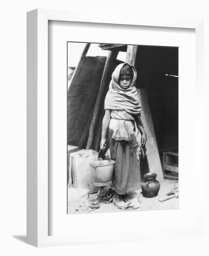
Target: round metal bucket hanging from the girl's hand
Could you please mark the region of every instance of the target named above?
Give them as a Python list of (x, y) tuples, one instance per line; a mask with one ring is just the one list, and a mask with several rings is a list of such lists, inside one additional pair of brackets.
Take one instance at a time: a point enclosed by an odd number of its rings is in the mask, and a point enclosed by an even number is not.
[(109, 160), (98, 160), (89, 164), (95, 186), (103, 187), (111, 185), (115, 161), (109, 158)]

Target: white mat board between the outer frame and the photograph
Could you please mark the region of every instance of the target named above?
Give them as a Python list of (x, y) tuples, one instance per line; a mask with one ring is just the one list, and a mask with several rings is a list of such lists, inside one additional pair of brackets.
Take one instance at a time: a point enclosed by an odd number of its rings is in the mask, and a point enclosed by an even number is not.
[[(196, 207), (191, 211), (191, 205), (194, 204), (196, 199), (194, 196), (188, 196), (188, 190), (192, 191), (193, 187), (198, 186), (196, 185), (198, 179), (195, 179), (194, 175), (196, 173), (195, 162), (190, 161), (191, 155), (194, 155), (195, 126), (192, 124), (192, 120), (194, 120), (194, 113), (198, 109), (195, 95), (195, 30), (165, 27), (132, 27), (130, 25), (109, 26), (107, 24), (98, 26), (95, 23), (84, 24), (66, 21), (51, 21), (48, 26), (48, 93), (50, 95), (48, 125), (52, 128), (48, 131), (50, 150), (48, 155), (50, 164), (49, 235), (68, 235), (73, 233), (80, 236), (78, 223), (79, 226), (83, 227), (83, 231), (91, 230), (92, 237), (98, 236), (98, 226), (102, 233), (108, 233), (110, 227), (114, 227), (114, 230), (108, 235), (108, 238), (113, 240), (113, 234), (116, 230), (124, 234), (132, 233), (134, 230), (143, 232), (144, 229), (149, 227), (147, 223), (149, 223), (150, 219), (157, 220), (151, 224), (152, 229), (181, 229), (193, 226), (198, 205), (196, 203)], [(69, 40), (79, 42), (84, 39), (87, 42), (111, 40), (113, 43), (179, 47), (180, 209), (126, 212), (123, 214), (108, 212), (66, 215), (66, 42)], [(170, 222), (171, 219), (172, 222)], [(128, 222), (128, 225), (123, 222)]]

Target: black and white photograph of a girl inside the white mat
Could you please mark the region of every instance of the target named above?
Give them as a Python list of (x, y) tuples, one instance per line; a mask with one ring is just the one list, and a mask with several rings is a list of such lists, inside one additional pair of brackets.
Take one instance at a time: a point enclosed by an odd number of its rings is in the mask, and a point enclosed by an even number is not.
[(179, 208), (178, 47), (67, 42), (68, 214)]

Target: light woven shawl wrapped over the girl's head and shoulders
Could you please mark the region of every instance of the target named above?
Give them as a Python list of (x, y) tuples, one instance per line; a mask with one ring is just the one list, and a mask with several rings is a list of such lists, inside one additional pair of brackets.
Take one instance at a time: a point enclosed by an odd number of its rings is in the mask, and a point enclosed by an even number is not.
[(119, 64), (112, 73), (109, 91), (107, 92), (104, 101), (104, 109), (125, 110), (130, 114), (140, 115), (141, 104), (138, 99), (137, 88), (135, 87), (137, 80), (137, 71), (132, 65), (130, 66), (133, 69), (133, 79), (131, 81), (130, 88), (123, 89), (118, 84), (121, 68), (125, 64), (130, 65), (126, 62)]

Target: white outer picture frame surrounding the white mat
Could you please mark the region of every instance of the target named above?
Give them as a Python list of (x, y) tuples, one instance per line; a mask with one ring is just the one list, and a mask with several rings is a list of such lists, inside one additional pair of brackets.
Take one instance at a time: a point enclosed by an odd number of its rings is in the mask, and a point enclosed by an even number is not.
[[(70, 17), (70, 18), (69, 18)], [(109, 18), (110, 17), (110, 18)], [(196, 90), (199, 110), (202, 111), (202, 70), (203, 70), (203, 22), (193, 19), (144, 19), (128, 16), (126, 20), (120, 20), (117, 16), (110, 15), (108, 19), (105, 13), (89, 18), (88, 15), (79, 10), (55, 11), (34, 10), (27, 15), (27, 243), (35, 246), (70, 245), (79, 243), (97, 243), (101, 239), (92, 239), (91, 236), (82, 234), (79, 237), (71, 236), (48, 236), (48, 77), (47, 77), (47, 55), (48, 55), (48, 20), (68, 20), (80, 22), (98, 22), (130, 24), (157, 27), (179, 27), (196, 29)], [(198, 84), (198, 87), (197, 87)], [(203, 114), (196, 117), (199, 122), (196, 127), (202, 130)], [(197, 136), (196, 136), (197, 137)], [(195, 142), (203, 148), (203, 133), (200, 141)], [(201, 144), (202, 143), (202, 144)], [(196, 152), (197, 155), (198, 152)], [(199, 156), (199, 155), (198, 155)], [(202, 156), (203, 157), (203, 156)], [(199, 169), (203, 170), (203, 161), (199, 161)], [(202, 171), (200, 171), (202, 175)], [(203, 191), (201, 191), (203, 192)], [(201, 211), (201, 208), (199, 209)], [(202, 232), (203, 222), (201, 212), (197, 216), (200, 222), (196, 227), (182, 229), (183, 235), (197, 235)], [(159, 229), (152, 230), (152, 234)], [(163, 232), (161, 232), (163, 234)], [(172, 236), (172, 230), (169, 234)], [(161, 235), (162, 236), (162, 235)], [(120, 233), (114, 237), (114, 242), (138, 240), (149, 237), (149, 229), (133, 232), (129, 238), (122, 237)], [(105, 241), (108, 242), (108, 239)]]

